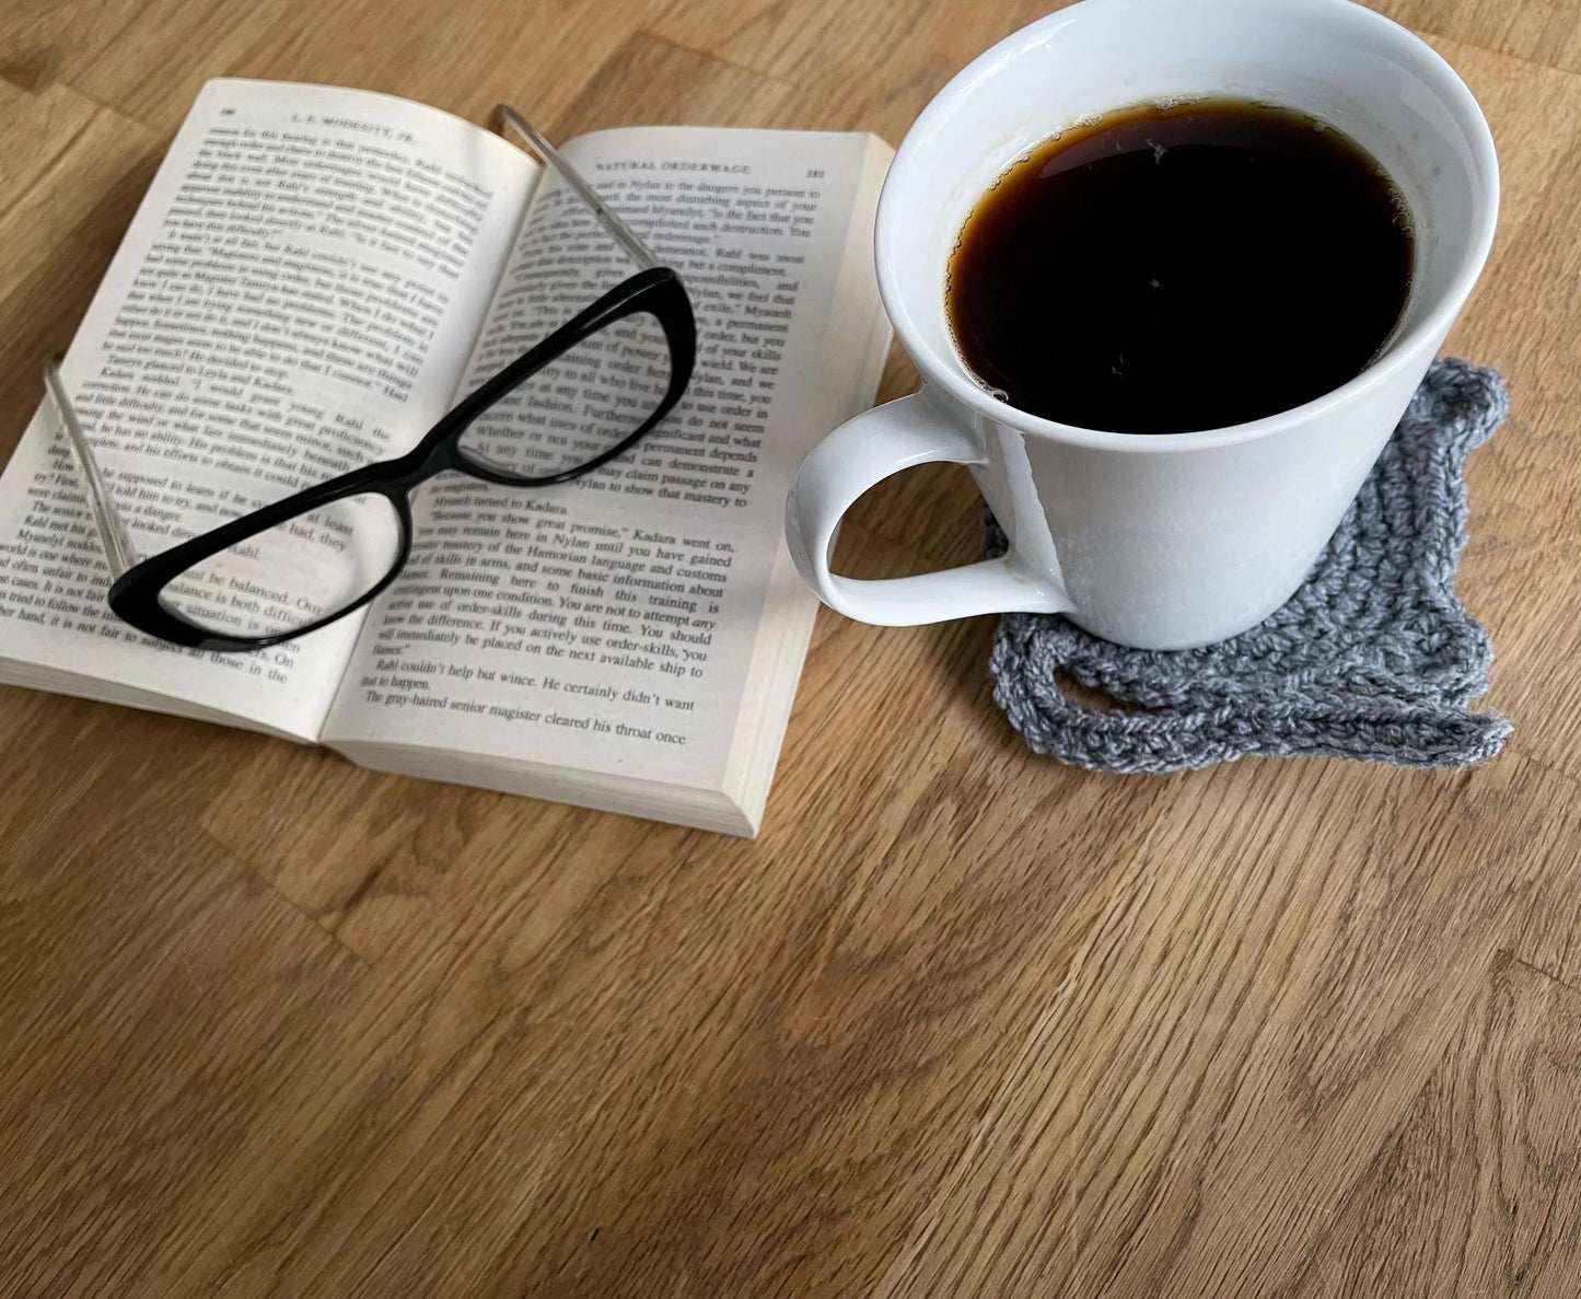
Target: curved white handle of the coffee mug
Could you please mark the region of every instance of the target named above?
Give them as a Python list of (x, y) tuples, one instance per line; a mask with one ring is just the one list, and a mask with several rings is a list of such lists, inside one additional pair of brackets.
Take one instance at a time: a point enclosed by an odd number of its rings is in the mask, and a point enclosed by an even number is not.
[(857, 497), (892, 473), (936, 460), (985, 465), (988, 454), (938, 410), (926, 389), (847, 419), (813, 448), (786, 498), (786, 541), (819, 598), (879, 627), (1073, 608), (1058, 582), (1020, 563), (1013, 547), (1001, 559), (914, 578), (858, 581), (828, 571), (835, 532)]

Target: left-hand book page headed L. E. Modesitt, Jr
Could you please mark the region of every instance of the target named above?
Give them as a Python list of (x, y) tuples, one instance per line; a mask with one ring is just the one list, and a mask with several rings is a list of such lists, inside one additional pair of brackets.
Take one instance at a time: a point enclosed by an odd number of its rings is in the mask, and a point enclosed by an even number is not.
[[(498, 136), (387, 95), (209, 82), (63, 367), (139, 552), (421, 438), (538, 171)], [(0, 676), (316, 737), (360, 615), (258, 653), (201, 653), (119, 622), (108, 587), (41, 408), (0, 478)]]

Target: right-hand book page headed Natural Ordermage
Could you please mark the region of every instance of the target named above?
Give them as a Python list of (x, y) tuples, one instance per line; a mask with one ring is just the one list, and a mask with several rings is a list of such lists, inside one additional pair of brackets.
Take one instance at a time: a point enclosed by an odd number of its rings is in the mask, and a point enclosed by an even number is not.
[[(413, 562), (364, 628), (326, 742), (719, 788), (773, 614), (787, 484), (830, 427), (822, 411), (844, 418), (873, 381), (876, 297), (870, 290), (862, 312), (835, 302), (855, 196), (871, 204), (876, 187), (874, 149), (887, 152), (862, 134), (702, 128), (566, 146), (681, 272), (697, 313), (691, 388), (637, 448), (572, 483), (432, 484)], [(590, 229), (545, 176), (465, 388), (610, 282), (590, 259), (613, 245)], [(618, 367), (604, 381), (602, 399), (618, 399)], [(598, 403), (523, 408), (519, 434), (553, 437)], [(808, 598), (784, 582), (773, 590)]]

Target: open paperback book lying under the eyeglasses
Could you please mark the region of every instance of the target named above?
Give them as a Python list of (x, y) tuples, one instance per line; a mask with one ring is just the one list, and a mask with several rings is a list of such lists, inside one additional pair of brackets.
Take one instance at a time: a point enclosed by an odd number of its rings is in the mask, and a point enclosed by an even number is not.
[[(697, 369), (664, 424), (557, 487), (443, 475), (368, 611), (220, 655), (109, 612), (41, 408), (0, 478), (0, 680), (754, 834), (816, 612), (784, 551), (786, 490), (871, 403), (889, 348), (871, 231), (890, 149), (639, 127), (561, 150), (692, 297)], [(557, 190), (438, 109), (209, 82), (63, 365), (138, 549), (400, 454), (593, 301)], [(555, 294), (525, 291), (545, 277)]]

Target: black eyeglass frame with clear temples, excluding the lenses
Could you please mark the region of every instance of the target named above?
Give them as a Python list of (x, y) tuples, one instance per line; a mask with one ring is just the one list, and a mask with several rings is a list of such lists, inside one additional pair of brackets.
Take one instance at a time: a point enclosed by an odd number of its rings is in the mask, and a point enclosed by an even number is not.
[[(104, 475), (93, 456), (93, 446), (82, 429), (74, 403), (66, 394), (58, 359), (44, 364), (44, 388), (55, 405), (55, 413), (60, 418), (66, 440), (82, 472), (89, 506), (93, 522), (98, 527), (106, 563), (111, 570), (109, 608), (122, 622), (185, 649), (215, 652), (262, 650), (285, 641), (294, 641), (299, 636), (307, 636), (365, 608), (400, 576), (411, 559), (414, 530), (411, 494), (430, 478), (454, 470), (503, 487), (550, 487), (558, 483), (569, 483), (623, 456), (677, 407), (691, 381), (697, 359), (697, 321), (692, 313), (691, 297), (680, 275), (648, 250), (631, 228), (604, 204), (577, 169), (515, 109), (509, 104), (498, 104), (490, 125), (496, 131), (506, 127), (515, 131), (526, 152), (536, 155), (545, 168), (555, 171), (593, 209), (594, 217), (599, 218), (604, 229), (613, 236), (640, 269), (468, 392), (403, 456), (376, 460), (362, 468), (337, 475), (313, 487), (292, 492), (289, 497), (272, 505), (253, 509), (237, 519), (201, 532), (198, 536), (188, 538), (168, 551), (142, 559), (131, 543), (131, 536), (120, 517)], [(571, 351), (571, 348), (577, 347), (577, 343), (582, 343), (610, 324), (643, 312), (658, 320), (659, 328), (664, 331), (664, 339), (670, 350), (670, 381), (658, 407), (637, 426), (636, 432), (572, 468), (539, 476), (492, 470), (487, 464), (466, 456), (460, 449), (462, 435), (489, 407), (526, 383), (533, 375), (542, 372), (547, 365)], [(206, 559), (250, 536), (269, 532), (289, 519), (297, 519), (337, 500), (370, 492), (383, 495), (394, 508), (400, 521), (400, 546), (389, 573), (357, 600), (335, 612), (304, 627), (291, 628), (289, 631), (266, 636), (228, 636), (182, 617), (160, 600), (160, 595), (172, 581)]]

